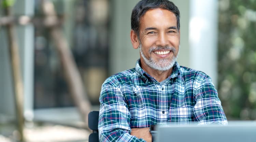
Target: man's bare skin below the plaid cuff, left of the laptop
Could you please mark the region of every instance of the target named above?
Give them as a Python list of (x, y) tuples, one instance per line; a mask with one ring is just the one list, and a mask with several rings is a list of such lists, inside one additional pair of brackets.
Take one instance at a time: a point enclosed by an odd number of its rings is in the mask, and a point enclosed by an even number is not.
[(152, 135), (149, 131), (150, 127), (147, 128), (132, 128), (131, 135), (136, 136), (137, 138), (142, 138), (147, 142), (152, 142)]

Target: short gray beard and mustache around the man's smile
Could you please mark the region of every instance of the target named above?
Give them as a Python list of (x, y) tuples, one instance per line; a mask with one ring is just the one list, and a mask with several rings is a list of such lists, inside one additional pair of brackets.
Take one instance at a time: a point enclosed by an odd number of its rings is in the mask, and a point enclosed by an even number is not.
[(145, 63), (152, 69), (155, 69), (158, 71), (167, 71), (174, 66), (174, 64), (177, 60), (177, 57), (175, 57), (176, 50), (174, 47), (165, 46), (165, 47), (153, 47), (153, 48), (149, 49), (150, 54), (154, 50), (159, 50), (159, 49), (171, 50), (173, 52), (173, 57), (172, 57), (171, 61), (169, 61), (168, 59), (159, 59), (158, 61), (155, 61), (152, 57), (147, 59), (141, 48), (142, 48), (142, 45), (140, 44), (139, 49), (140, 49), (141, 56), (144, 59)]

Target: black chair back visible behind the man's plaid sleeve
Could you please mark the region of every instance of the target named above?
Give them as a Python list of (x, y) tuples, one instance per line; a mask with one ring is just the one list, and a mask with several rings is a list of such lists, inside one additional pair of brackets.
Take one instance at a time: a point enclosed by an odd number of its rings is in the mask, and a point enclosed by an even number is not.
[(93, 130), (93, 133), (89, 135), (88, 142), (99, 142), (99, 111), (91, 111), (88, 114), (88, 127)]

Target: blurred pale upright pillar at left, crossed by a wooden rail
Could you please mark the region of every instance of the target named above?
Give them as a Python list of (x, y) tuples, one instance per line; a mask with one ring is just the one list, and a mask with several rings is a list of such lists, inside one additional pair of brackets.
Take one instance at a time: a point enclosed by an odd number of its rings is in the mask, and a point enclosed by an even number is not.
[[(14, 5), (16, 15), (34, 16), (34, 0), (18, 0)], [(16, 27), (22, 65), (24, 83), (24, 117), (33, 119), (34, 98), (34, 26), (33, 24), (18, 25)]]

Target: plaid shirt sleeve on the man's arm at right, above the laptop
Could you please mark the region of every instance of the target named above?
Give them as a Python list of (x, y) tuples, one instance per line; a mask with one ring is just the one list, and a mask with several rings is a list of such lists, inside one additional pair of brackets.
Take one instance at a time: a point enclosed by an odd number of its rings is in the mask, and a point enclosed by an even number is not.
[(194, 120), (199, 125), (210, 123), (227, 124), (227, 118), (218, 98), (217, 90), (214, 88), (212, 80), (209, 76), (196, 81), (194, 97), (196, 104), (194, 106)]

